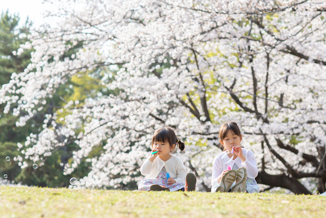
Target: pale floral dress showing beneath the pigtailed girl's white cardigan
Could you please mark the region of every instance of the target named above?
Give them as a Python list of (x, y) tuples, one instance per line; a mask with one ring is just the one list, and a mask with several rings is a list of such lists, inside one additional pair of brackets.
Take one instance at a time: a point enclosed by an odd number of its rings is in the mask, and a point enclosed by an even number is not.
[(165, 187), (168, 187), (170, 189), (170, 191), (177, 191), (179, 189), (184, 188), (184, 183), (179, 183), (176, 182), (172, 185), (168, 185), (167, 182), (167, 171), (165, 169), (165, 167), (163, 167), (161, 169), (161, 172), (159, 172), (158, 176), (156, 177), (156, 179), (143, 179), (139, 184), (138, 184), (138, 190), (139, 191), (149, 191), (149, 187), (151, 185), (162, 185)]

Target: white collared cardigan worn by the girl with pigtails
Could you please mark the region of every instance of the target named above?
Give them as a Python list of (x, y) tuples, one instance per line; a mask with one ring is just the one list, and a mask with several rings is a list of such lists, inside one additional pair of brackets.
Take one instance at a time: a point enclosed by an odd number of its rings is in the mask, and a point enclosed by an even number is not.
[(158, 156), (153, 162), (149, 161), (149, 158), (141, 166), (141, 174), (146, 176), (147, 179), (156, 179), (161, 169), (165, 166), (167, 173), (175, 182), (185, 183), (186, 171), (182, 160), (171, 155), (171, 158), (167, 161), (160, 159)]

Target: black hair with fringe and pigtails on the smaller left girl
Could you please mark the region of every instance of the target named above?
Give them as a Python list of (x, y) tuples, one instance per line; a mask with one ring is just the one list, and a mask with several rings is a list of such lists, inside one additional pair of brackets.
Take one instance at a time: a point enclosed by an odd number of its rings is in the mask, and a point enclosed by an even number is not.
[(152, 137), (152, 147), (155, 141), (169, 142), (170, 148), (173, 148), (173, 144), (178, 144), (179, 149), (181, 151), (184, 150), (184, 143), (177, 138), (174, 131), (170, 127), (165, 127), (156, 130)]

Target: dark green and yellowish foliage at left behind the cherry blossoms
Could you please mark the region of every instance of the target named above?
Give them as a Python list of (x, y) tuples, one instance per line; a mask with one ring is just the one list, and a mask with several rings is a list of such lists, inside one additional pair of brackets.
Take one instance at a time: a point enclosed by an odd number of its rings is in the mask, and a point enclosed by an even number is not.
[[(18, 21), (17, 15), (10, 15), (8, 11), (2, 13), (0, 20), (0, 87), (10, 81), (13, 72), (17, 74), (22, 72), (30, 63), (33, 50), (26, 50), (19, 56), (13, 55), (13, 51), (17, 51), (20, 44), (29, 41), (28, 35), (32, 25), (26, 20), (23, 27), (19, 28)], [(82, 45), (83, 42), (79, 42), (72, 46), (61, 59), (72, 58), (72, 54), (75, 54)], [(56, 90), (56, 94), (52, 98), (47, 99), (47, 106), (24, 127), (16, 127), (15, 124), (19, 117), (13, 116), (11, 113), (5, 114), (5, 105), (0, 105), (0, 174), (7, 174), (8, 180), (16, 183), (42, 187), (66, 187), (69, 185), (70, 177), (82, 178), (86, 176), (90, 171), (90, 163), (86, 161), (80, 164), (72, 175), (63, 175), (63, 166), (60, 164), (71, 161), (72, 152), (77, 149), (77, 145), (73, 142), (67, 143), (65, 147), (53, 152), (53, 155), (43, 160), (44, 164), (38, 162), (37, 164), (40, 166), (37, 169), (32, 167), (33, 162), (28, 162), (28, 167), (20, 169), (17, 161), (13, 159), (18, 155), (23, 156), (18, 151), (18, 142), (24, 144), (26, 137), (31, 133), (37, 134), (42, 131), (45, 114), (58, 112), (58, 119), (60, 119), (60, 115), (66, 111), (59, 112), (59, 110), (69, 101), (78, 100), (79, 103), (75, 106), (82, 106), (85, 99), (94, 98), (98, 93), (115, 94), (115, 90), (107, 90), (100, 85), (101, 79), (107, 73), (107, 69), (95, 69), (92, 72), (80, 72), (80, 74), (73, 76), (66, 84), (61, 85)], [(112, 76), (108, 79), (111, 79)], [(57, 121), (59, 122), (59, 120)], [(76, 131), (78, 133), (78, 130)], [(94, 148), (91, 156), (98, 156), (102, 151), (102, 147)], [(9, 162), (5, 160), (7, 156), (11, 157)]]

